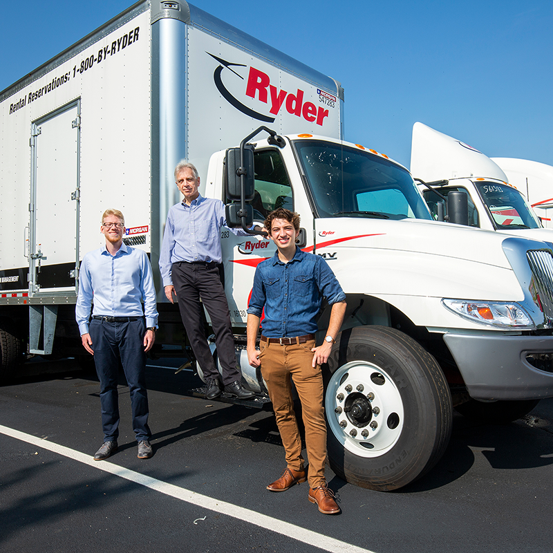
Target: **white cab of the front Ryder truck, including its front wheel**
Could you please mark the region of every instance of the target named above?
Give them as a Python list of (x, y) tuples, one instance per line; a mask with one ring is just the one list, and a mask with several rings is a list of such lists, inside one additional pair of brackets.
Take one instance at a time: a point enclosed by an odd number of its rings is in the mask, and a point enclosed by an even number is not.
[[(550, 245), (435, 221), (409, 171), (360, 144), (304, 133), (247, 147), (252, 220), (280, 206), (299, 213), (299, 247), (326, 259), (346, 292), (324, 371), (336, 474), (397, 489), (438, 461), (453, 406), (480, 420), (514, 420), (553, 395)], [(225, 155), (212, 156), (203, 194), (228, 202)], [(246, 310), (255, 268), (275, 247), (227, 231), (222, 243), (237, 358), (262, 393), (244, 351)]]

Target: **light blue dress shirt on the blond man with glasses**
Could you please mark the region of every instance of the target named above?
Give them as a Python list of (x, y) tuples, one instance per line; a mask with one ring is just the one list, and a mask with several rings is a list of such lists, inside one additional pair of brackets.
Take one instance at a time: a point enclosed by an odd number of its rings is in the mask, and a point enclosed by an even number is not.
[[(79, 294), (75, 318), (81, 335), (88, 333), (92, 315), (146, 317), (146, 326), (157, 326), (156, 288), (148, 256), (124, 243), (115, 255), (104, 244), (88, 252), (79, 270)], [(144, 308), (142, 308), (144, 301)]]

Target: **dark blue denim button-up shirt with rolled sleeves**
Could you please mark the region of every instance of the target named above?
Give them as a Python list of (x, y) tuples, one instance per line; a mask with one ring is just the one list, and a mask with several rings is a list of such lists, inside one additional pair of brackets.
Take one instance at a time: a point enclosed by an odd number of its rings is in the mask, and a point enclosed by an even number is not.
[(261, 317), (265, 308), (261, 326), (268, 338), (314, 334), (323, 297), (332, 305), (344, 301), (346, 294), (321, 256), (296, 247), (288, 263), (279, 260), (278, 252), (259, 263), (247, 312)]

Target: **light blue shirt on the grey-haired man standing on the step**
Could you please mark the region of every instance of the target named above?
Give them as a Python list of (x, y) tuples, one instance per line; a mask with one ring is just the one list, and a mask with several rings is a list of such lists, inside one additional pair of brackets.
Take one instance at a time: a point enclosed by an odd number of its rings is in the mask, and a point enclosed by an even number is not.
[[(160, 253), (164, 287), (173, 284), (171, 267), (178, 261), (221, 263), (221, 227), (226, 226), (225, 204), (201, 194), (190, 205), (184, 201), (169, 209)], [(243, 229), (229, 229), (236, 236), (248, 236)]]

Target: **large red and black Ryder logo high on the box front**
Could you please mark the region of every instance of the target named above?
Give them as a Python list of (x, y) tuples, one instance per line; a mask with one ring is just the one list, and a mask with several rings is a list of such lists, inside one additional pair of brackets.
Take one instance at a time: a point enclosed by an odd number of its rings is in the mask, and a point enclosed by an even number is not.
[[(209, 54), (209, 52), (207, 53)], [(285, 91), (283, 89), (279, 90), (277, 86), (271, 84), (269, 75), (252, 66), (250, 66), (247, 81), (245, 81), (245, 95), (254, 98), (254, 100), (258, 100), (261, 104), (265, 104), (265, 106), (261, 106), (260, 104), (260, 109), (262, 108), (264, 111), (266, 108), (269, 108), (270, 115), (259, 113), (258, 111), (245, 106), (240, 100), (238, 100), (238, 98), (232, 95), (232, 93), (225, 86), (223, 79), (221, 78), (221, 73), (227, 69), (228, 71), (234, 73), (234, 75), (236, 75), (239, 79), (245, 80), (242, 75), (234, 71), (232, 68), (246, 66), (244, 64), (233, 64), (231, 62), (227, 62), (225, 59), (217, 57), (213, 54), (209, 55), (221, 64), (216, 68), (213, 74), (217, 90), (221, 93), (225, 100), (229, 102), (229, 104), (248, 117), (263, 121), (265, 123), (272, 123), (279, 113), (284, 113), (284, 111), (286, 111), (290, 113), (290, 115), (296, 115), (297, 117), (303, 118), (310, 123), (315, 122), (320, 126), (323, 125), (325, 118), (328, 117), (328, 109), (324, 109), (323, 106), (316, 106), (313, 102), (303, 101), (305, 91), (301, 90), (301, 88), (297, 88), (295, 91)]]

